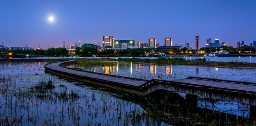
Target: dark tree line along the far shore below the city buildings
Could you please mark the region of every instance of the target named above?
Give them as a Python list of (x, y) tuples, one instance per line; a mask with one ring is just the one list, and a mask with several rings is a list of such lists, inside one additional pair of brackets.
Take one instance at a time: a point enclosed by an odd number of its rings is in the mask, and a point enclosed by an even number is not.
[[(219, 52), (220, 48), (200, 48), (199, 53), (211, 53), (211, 52)], [(255, 53), (255, 48), (242, 48), (238, 50), (237, 48), (225, 48), (225, 51), (228, 51), (230, 54), (240, 54), (244, 53), (245, 51), (248, 53)], [(68, 50), (65, 48), (49, 48), (47, 50), (0, 50), (1, 53), (9, 53), (11, 52), (12, 55), (16, 54), (35, 54), (41, 56), (67, 56)], [(196, 50), (190, 50), (186, 47), (179, 49), (179, 48), (171, 48), (169, 50), (159, 50), (156, 48), (155, 50), (149, 51), (147, 48), (137, 48), (131, 49), (127, 48), (126, 50), (102, 50), (98, 51), (96, 48), (92, 47), (84, 47), (83, 49), (80, 47), (76, 47), (75, 54), (79, 56), (91, 56), (91, 55), (130, 55), (130, 56), (139, 56), (144, 55), (148, 52), (165, 52), (166, 54), (194, 54)]]

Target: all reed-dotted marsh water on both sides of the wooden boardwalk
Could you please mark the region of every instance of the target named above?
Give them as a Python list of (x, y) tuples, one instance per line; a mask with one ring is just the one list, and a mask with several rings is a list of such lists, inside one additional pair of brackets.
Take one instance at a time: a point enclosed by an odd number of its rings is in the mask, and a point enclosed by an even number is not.
[[(250, 106), (232, 101), (197, 98), (157, 91), (137, 96), (45, 73), (47, 62), (0, 62), (0, 125), (195, 125), (249, 124)], [(122, 65), (121, 65), (122, 64)], [(255, 82), (254, 68), (159, 66), (114, 62), (80, 67), (92, 72), (144, 79), (187, 76)], [(232, 74), (234, 75), (232, 75)], [(246, 77), (244, 74), (249, 73)], [(218, 75), (221, 74), (221, 75)], [(236, 78), (236, 76), (241, 76)], [(229, 77), (228, 77), (229, 76)], [(226, 78), (223, 78), (226, 79)], [(39, 86), (52, 83), (52, 87)], [(241, 121), (243, 120), (243, 121)]]

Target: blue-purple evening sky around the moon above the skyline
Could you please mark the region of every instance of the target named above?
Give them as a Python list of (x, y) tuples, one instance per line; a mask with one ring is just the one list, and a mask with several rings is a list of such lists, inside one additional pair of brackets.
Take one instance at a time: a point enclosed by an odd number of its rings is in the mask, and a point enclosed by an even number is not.
[[(54, 21), (49, 22), (53, 16)], [(81, 41), (102, 46), (103, 35), (173, 45), (200, 36), (235, 46), (256, 40), (256, 0), (1, 0), (0, 44), (38, 48)]]

